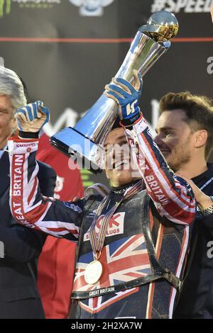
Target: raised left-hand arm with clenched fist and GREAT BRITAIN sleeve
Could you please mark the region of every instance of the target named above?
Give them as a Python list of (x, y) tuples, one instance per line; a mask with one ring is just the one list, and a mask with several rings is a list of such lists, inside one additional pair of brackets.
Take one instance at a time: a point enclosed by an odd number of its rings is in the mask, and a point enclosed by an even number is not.
[(37, 101), (18, 109), (15, 117), (19, 137), (9, 139), (11, 213), (22, 225), (76, 241), (82, 220), (82, 203), (43, 198), (38, 184), (35, 160), (38, 133), (48, 122), (50, 111)]

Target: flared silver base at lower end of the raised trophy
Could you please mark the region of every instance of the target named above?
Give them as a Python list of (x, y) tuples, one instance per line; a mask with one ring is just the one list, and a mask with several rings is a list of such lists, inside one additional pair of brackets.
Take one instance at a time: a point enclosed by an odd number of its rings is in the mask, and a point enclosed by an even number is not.
[(102, 147), (96, 145), (75, 128), (60, 130), (50, 137), (50, 143), (67, 157), (71, 157), (78, 164), (79, 169), (87, 169), (94, 174), (102, 172)]

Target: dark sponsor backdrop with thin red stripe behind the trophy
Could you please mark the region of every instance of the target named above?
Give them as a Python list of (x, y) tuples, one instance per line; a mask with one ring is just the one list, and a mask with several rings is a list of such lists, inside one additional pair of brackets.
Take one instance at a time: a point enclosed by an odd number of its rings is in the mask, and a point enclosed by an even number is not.
[[(84, 16), (76, 6), (83, 2)], [(180, 23), (178, 37), (146, 74), (141, 98), (143, 113), (155, 128), (158, 100), (168, 91), (212, 97), (210, 4), (213, 1), (1, 0), (0, 56), (5, 67), (25, 81), (28, 101), (39, 99), (50, 108), (51, 125), (45, 130), (53, 135), (62, 126), (75, 125), (97, 101), (152, 11), (171, 10)], [(96, 16), (98, 9), (102, 16)], [(104, 181), (104, 176), (87, 171), (82, 176), (84, 186)]]

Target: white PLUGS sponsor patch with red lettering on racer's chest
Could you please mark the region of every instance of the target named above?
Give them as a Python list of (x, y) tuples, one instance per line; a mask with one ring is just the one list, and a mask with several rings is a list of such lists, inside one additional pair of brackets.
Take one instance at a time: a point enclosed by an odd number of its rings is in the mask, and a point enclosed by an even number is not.
[[(107, 227), (106, 237), (124, 234), (124, 217), (125, 212), (119, 212), (112, 215), (111, 219), (109, 220), (109, 225)], [(101, 215), (97, 219), (95, 227), (95, 232), (97, 233), (97, 235), (99, 235), (99, 229), (102, 225), (103, 218), (104, 215)], [(86, 234), (84, 235), (84, 242), (87, 242), (87, 240), (89, 240), (89, 232), (86, 232)]]

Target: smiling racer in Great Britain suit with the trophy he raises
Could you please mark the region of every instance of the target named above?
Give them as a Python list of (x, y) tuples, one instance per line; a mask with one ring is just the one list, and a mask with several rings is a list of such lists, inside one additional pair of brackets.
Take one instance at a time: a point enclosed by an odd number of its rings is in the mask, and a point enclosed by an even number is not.
[[(136, 35), (119, 73), (97, 102), (98, 110), (90, 109), (91, 124), (85, 115), (80, 120), (83, 130), (78, 123), (52, 139), (64, 152), (69, 146), (74, 150), (72, 142), (90, 140), (92, 154), (81, 154), (92, 166), (101, 165), (102, 154), (98, 153), (104, 152), (110, 189), (96, 184), (76, 203), (44, 198), (35, 153), (38, 133), (50, 112), (38, 101), (16, 111), (19, 138), (9, 141), (11, 211), (27, 227), (78, 242), (72, 318), (173, 316), (184, 277), (195, 199), (187, 181), (173, 174), (153, 142), (138, 107), (142, 79), (135, 70), (147, 72), (168, 46), (165, 36), (173, 32), (170, 23), (163, 26), (165, 16), (164, 12), (157, 17), (159, 24), (152, 17), (151, 24)], [(118, 149), (122, 145), (129, 151)]]

